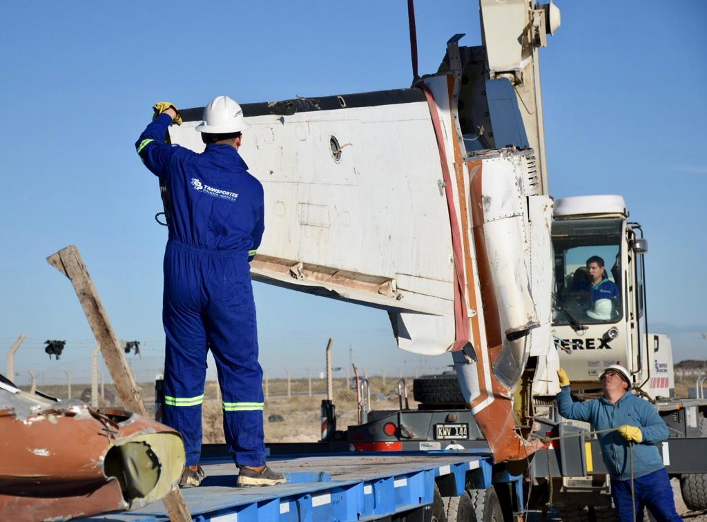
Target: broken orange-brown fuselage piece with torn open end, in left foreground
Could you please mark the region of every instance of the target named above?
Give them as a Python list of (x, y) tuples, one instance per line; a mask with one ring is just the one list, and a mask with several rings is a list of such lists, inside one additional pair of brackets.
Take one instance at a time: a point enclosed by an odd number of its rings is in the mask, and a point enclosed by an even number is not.
[(25, 393), (0, 378), (0, 519), (132, 509), (161, 499), (185, 463), (182, 437), (118, 408)]

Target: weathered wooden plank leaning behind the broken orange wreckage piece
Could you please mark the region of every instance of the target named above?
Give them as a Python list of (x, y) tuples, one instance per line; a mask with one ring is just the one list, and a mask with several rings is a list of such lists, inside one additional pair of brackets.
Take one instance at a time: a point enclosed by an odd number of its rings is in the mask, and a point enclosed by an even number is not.
[[(113, 327), (108, 319), (108, 314), (103, 308), (98, 291), (93, 286), (83, 262), (81, 253), (74, 245), (62, 248), (59, 252), (47, 257), (47, 262), (52, 267), (62, 272), (74, 285), (78, 302), (81, 303), (83, 313), (86, 315), (88, 325), (93, 330), (95, 340), (98, 341), (100, 351), (103, 354), (105, 365), (110, 371), (110, 376), (115, 383), (120, 400), (128, 410), (139, 413), (147, 417), (147, 408), (140, 397), (140, 388), (135, 383), (135, 379), (125, 359), (122, 347), (115, 336)], [(170, 520), (175, 522), (191, 521), (189, 509), (182, 497), (179, 489), (173, 489), (162, 499)]]

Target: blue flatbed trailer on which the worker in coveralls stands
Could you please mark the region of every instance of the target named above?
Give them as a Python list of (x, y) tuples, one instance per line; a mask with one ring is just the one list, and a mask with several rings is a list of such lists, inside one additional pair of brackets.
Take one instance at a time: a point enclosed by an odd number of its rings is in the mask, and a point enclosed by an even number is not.
[[(200, 487), (182, 489), (189, 512), (199, 522), (372, 521), (402, 514), (429, 520), (436, 495), (457, 497), (466, 489), (509, 482), (522, 505), (522, 477), (494, 472), (487, 451), (375, 452), (271, 456), (288, 483), (235, 487), (233, 460), (202, 460)], [(418, 518), (420, 517), (420, 518)], [(161, 502), (134, 511), (88, 518), (91, 521), (168, 521)]]

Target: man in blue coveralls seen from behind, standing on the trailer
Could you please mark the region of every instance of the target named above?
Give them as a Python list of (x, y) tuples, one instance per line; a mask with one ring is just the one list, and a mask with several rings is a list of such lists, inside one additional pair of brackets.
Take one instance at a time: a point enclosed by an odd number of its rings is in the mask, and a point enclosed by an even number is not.
[(135, 146), (145, 166), (170, 195), (164, 258), (165, 422), (180, 431), (187, 461), (180, 487), (204, 479), (201, 402), (206, 352), (216, 361), (223, 396), (223, 431), (239, 468), (237, 485), (285, 482), (265, 463), (262, 369), (258, 363), (255, 303), (249, 262), (264, 231), (263, 188), (238, 154), (248, 128), (228, 96), (204, 108), (196, 128), (206, 150), (165, 143), (171, 103), (155, 105), (153, 122)]

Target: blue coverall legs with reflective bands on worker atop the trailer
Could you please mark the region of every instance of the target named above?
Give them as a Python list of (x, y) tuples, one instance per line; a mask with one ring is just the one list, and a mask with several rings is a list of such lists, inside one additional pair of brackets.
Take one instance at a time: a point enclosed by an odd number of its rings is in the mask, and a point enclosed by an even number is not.
[(165, 424), (184, 439), (187, 465), (201, 455), (206, 354), (216, 361), (226, 445), (238, 465), (265, 463), (262, 369), (247, 252), (170, 240), (165, 250)]

